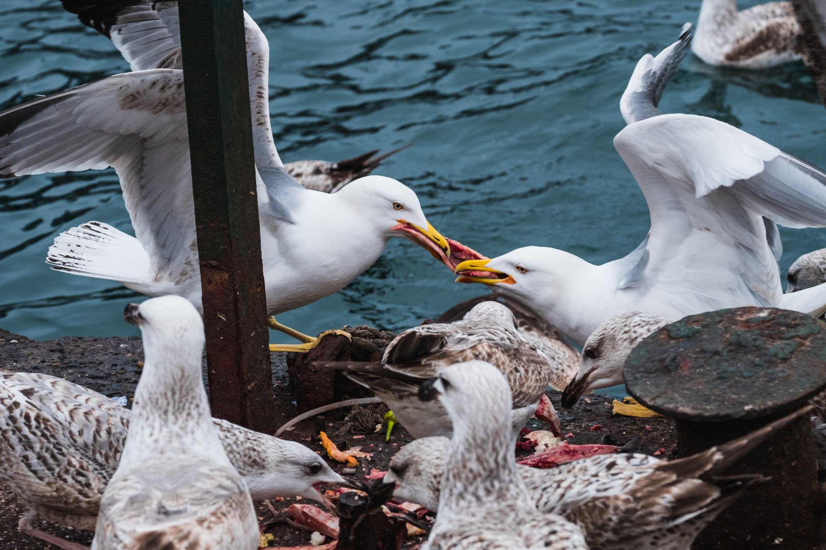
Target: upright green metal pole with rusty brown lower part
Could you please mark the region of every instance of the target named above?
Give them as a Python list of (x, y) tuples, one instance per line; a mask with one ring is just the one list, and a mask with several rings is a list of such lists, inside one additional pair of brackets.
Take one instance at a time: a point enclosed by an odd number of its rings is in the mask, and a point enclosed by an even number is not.
[(212, 415), (273, 433), (243, 4), (178, 9)]

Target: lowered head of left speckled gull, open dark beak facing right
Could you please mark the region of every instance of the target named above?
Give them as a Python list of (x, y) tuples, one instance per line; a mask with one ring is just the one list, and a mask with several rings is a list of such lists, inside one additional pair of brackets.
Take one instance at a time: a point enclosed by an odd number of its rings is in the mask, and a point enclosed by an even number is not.
[(237, 461), (242, 464), (238, 471), (255, 501), (298, 495), (330, 507), (322, 486), (351, 486), (301, 443), (260, 434), (256, 437), (255, 452), (255, 460)]

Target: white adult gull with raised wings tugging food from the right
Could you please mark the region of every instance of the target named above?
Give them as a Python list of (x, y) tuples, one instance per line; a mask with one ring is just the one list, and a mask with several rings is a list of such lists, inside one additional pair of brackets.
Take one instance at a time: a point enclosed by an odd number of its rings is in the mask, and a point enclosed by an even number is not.
[(496, 285), (580, 345), (626, 311), (675, 321), (738, 306), (826, 309), (824, 285), (783, 294), (776, 227), (826, 225), (826, 173), (724, 122), (657, 110), (690, 31), (640, 59), (620, 101), (628, 126), (614, 145), (648, 202), (643, 243), (603, 265), (529, 246), (459, 263), (458, 282)]

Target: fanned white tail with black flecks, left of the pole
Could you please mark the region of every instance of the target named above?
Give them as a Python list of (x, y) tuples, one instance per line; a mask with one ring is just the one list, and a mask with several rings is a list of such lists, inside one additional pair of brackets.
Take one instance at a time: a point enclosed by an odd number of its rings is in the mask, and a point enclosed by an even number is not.
[(46, 263), (57, 271), (117, 282), (145, 282), (150, 258), (138, 239), (100, 221), (89, 221), (55, 237)]

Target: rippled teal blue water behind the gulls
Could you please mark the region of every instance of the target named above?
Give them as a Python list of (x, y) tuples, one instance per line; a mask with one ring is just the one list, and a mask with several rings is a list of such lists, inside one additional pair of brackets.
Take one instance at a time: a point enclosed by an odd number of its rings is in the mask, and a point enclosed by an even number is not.
[[(415, 189), (439, 231), (488, 256), (542, 244), (601, 263), (643, 239), (648, 209), (612, 145), (619, 97), (639, 57), (696, 20), (699, 0), (244, 4), (269, 40), (286, 161), (411, 144), (377, 173)], [(3, 0), (0, 108), (126, 70), (58, 0)], [(689, 56), (661, 107), (713, 116), (826, 167), (826, 111), (803, 64), (748, 72)], [(131, 232), (111, 171), (2, 180), (2, 328), (36, 339), (135, 334), (121, 315), (132, 292), (44, 263), (55, 235), (88, 220)], [(784, 272), (826, 245), (824, 230), (781, 234)], [(394, 239), (342, 292), (279, 320), (311, 333), (399, 330), (483, 290)]]

